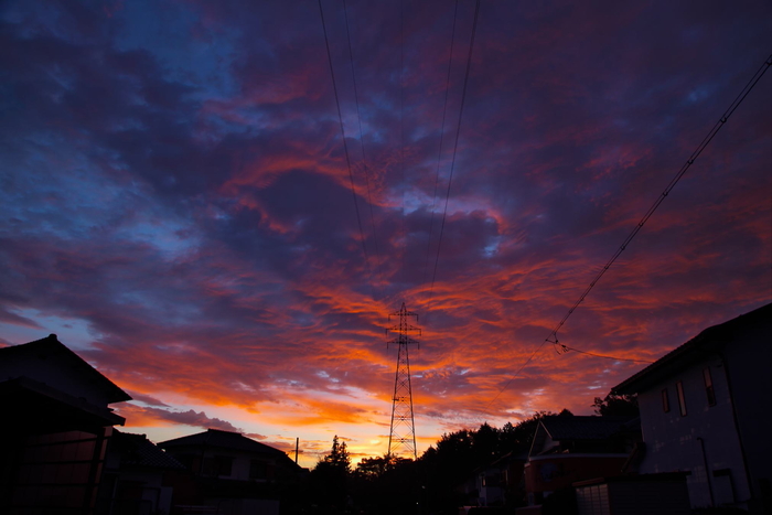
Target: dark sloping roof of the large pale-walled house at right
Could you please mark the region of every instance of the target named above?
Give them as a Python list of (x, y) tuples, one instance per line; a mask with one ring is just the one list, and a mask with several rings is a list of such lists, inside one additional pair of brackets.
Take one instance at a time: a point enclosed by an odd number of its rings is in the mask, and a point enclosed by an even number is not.
[(772, 321), (772, 303), (721, 324), (712, 325), (641, 372), (614, 386), (611, 388), (611, 391), (614, 394), (635, 394), (645, 390), (662, 378), (689, 366), (694, 363), (695, 356), (721, 351), (728, 343), (733, 341), (735, 334), (741, 329), (763, 323), (769, 325), (770, 321)]

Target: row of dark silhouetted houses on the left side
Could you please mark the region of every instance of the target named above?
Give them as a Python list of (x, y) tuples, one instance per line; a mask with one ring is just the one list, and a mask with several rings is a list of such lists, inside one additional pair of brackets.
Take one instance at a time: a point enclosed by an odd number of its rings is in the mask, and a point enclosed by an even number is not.
[(0, 513), (278, 515), (286, 453), (210, 429), (154, 444), (115, 429), (131, 397), (55, 334), (0, 348)]

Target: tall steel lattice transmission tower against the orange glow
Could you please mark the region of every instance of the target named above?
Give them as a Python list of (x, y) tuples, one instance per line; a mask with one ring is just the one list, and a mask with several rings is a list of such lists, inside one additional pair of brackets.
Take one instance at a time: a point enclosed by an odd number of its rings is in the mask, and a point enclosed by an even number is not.
[[(397, 337), (387, 342), (388, 344), (397, 344), (397, 372), (394, 378), (394, 397), (392, 404), (392, 429), (388, 436), (388, 455), (411, 458), (416, 460), (416, 421), (412, 416), (412, 389), (410, 387), (410, 358), (408, 354), (409, 345), (419, 345), (417, 340), (409, 336), (409, 333), (418, 333), (420, 336), (421, 330), (408, 323), (410, 316), (416, 318), (418, 314), (408, 311), (405, 308), (405, 302), (399, 311), (388, 315), (399, 316), (399, 324), (386, 330), (397, 333)], [(419, 346), (420, 348), (420, 346)]]

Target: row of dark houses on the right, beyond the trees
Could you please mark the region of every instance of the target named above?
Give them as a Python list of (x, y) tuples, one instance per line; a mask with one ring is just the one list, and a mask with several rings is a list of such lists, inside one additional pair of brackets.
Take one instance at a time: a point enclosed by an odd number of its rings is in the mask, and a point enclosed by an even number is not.
[(772, 513), (772, 304), (704, 330), (612, 393), (637, 395), (640, 417), (543, 417), (529, 452), (459, 489), (478, 506), (527, 503), (518, 515), (550, 503), (580, 515)]

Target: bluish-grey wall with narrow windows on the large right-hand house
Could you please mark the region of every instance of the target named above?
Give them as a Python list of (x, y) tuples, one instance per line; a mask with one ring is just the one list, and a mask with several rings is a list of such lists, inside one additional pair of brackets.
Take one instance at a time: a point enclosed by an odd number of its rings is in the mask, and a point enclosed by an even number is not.
[[(715, 406), (708, 403), (705, 368), (710, 369)], [(685, 416), (679, 410), (677, 382), (682, 382), (684, 388)], [(663, 410), (663, 389), (668, 393), (669, 412)], [(719, 356), (706, 356), (667, 380), (641, 391), (639, 406), (646, 442), (646, 455), (640, 469), (642, 474), (690, 472), (687, 485), (694, 507), (735, 504), (749, 498), (726, 369)], [(714, 476), (716, 472), (723, 475)]]

